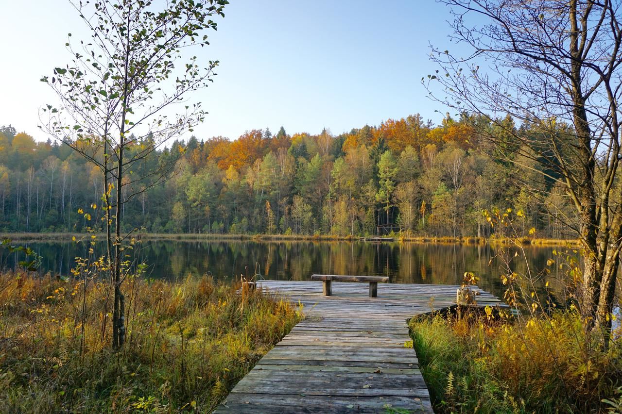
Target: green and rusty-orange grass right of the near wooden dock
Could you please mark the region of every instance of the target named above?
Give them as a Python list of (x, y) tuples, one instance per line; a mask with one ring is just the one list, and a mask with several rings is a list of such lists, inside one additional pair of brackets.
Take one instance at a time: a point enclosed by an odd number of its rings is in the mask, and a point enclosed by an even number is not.
[(602, 351), (572, 310), (521, 323), (430, 316), (411, 336), (438, 413), (606, 412), (622, 385), (622, 341)]

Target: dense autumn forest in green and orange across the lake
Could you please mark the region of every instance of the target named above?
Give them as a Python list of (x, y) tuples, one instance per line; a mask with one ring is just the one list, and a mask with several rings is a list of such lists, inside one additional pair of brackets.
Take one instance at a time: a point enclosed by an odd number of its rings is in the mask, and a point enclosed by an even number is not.
[[(568, 237), (570, 213), (545, 214), (550, 206), (569, 211), (564, 191), (542, 179), (541, 163), (514, 155), (524, 149), (512, 148), (512, 134), (537, 139), (539, 128), (467, 113), (447, 114), (435, 126), (414, 114), (338, 136), (328, 129), (290, 135), (281, 127), (235, 140), (175, 140), (149, 152), (125, 178), (124, 231), (490, 237), (507, 230), (493, 228), (484, 211), (513, 209), (514, 235)], [(484, 136), (508, 137), (506, 147)], [(134, 141), (134, 152), (153, 144), (148, 136)], [(169, 164), (156, 185), (132, 182)], [(1, 127), (2, 232), (96, 226), (84, 211), (100, 202), (102, 180), (67, 145)]]

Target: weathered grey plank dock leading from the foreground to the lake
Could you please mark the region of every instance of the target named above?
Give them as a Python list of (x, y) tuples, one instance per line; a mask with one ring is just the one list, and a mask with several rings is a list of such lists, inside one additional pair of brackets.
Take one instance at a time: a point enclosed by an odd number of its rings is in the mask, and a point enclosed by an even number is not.
[[(407, 318), (455, 303), (455, 285), (265, 280), (304, 306), (305, 320), (262, 357), (216, 413), (432, 412)], [(480, 290), (480, 305), (500, 301)]]

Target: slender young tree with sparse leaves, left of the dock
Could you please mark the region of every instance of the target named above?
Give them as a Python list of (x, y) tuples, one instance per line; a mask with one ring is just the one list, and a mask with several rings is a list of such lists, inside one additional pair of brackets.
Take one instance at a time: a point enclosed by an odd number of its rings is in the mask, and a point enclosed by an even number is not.
[[(132, 165), (205, 117), (194, 91), (211, 81), (217, 61), (188, 55), (209, 44), (226, 0), (74, 2), (91, 39), (65, 44), (72, 61), (41, 79), (58, 102), (44, 108), (43, 128), (100, 169), (107, 258), (114, 285), (113, 347), (125, 340), (123, 205), (162, 182), (174, 162), (139, 177)], [(142, 185), (135, 185), (141, 182)], [(140, 188), (124, 191), (127, 186)]]

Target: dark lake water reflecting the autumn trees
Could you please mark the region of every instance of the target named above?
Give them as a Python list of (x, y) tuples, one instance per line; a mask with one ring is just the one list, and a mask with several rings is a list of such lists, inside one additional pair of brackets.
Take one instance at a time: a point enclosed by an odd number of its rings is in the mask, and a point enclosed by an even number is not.
[[(77, 256), (85, 257), (86, 246), (73, 242), (29, 242), (42, 255), (42, 272), (67, 275)], [(232, 280), (259, 274), (276, 280), (309, 280), (314, 273), (336, 275), (382, 275), (392, 283), (460, 284), (464, 272), (480, 277), (480, 287), (503, 297), (506, 287), (499, 275), (504, 258), (511, 257), (510, 267), (520, 274), (539, 275), (534, 287), (542, 292), (546, 281), (555, 296), (562, 296), (563, 271), (549, 266), (553, 247), (472, 246), (460, 244), (309, 242), (309, 241), (143, 241), (135, 257), (149, 265), (151, 278), (175, 279), (188, 274), (211, 274)], [(557, 248), (557, 250), (567, 250)], [(514, 257), (518, 252), (519, 255)], [(0, 251), (0, 265), (14, 267), (16, 257)]]

